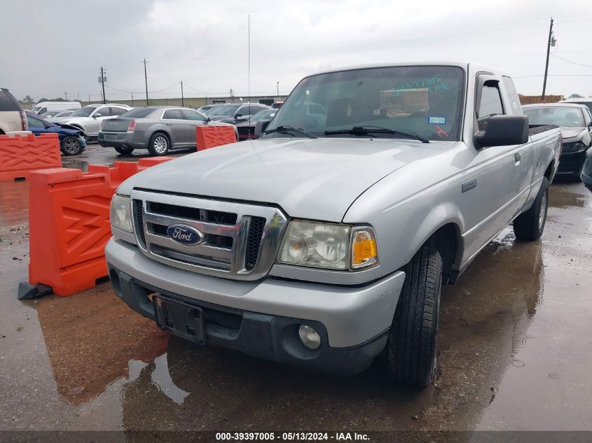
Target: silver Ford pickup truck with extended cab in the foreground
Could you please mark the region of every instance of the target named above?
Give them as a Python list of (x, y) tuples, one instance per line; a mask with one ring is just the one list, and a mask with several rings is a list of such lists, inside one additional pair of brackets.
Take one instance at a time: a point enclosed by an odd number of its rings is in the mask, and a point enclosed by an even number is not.
[(427, 386), (441, 284), (511, 223), (539, 239), (560, 129), (467, 63), (309, 76), (263, 129), (118, 188), (114, 290), (199, 344)]

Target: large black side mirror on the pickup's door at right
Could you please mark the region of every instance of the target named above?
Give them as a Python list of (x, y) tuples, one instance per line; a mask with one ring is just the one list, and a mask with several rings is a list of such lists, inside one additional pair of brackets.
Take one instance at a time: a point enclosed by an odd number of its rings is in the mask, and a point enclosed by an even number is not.
[(479, 148), (520, 145), (528, 142), (528, 116), (493, 115), (485, 131), (475, 134)]

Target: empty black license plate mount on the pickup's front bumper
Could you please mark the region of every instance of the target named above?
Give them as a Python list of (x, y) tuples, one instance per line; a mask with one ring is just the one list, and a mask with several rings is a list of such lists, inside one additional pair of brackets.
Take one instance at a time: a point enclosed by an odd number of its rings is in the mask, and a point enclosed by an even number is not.
[(200, 307), (153, 296), (156, 324), (165, 331), (198, 344), (205, 344), (205, 325)]

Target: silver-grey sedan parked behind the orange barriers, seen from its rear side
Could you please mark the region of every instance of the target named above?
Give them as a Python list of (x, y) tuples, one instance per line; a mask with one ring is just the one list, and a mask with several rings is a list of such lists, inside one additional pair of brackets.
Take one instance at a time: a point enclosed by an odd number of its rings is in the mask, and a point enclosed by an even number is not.
[[(99, 145), (112, 146), (123, 155), (147, 149), (150, 155), (166, 155), (174, 148), (195, 148), (196, 130), (201, 125), (228, 125), (212, 122), (192, 108), (147, 106), (135, 108), (118, 118), (102, 122)], [(229, 125), (232, 126), (232, 125)], [(238, 139), (237, 129), (234, 127)]]

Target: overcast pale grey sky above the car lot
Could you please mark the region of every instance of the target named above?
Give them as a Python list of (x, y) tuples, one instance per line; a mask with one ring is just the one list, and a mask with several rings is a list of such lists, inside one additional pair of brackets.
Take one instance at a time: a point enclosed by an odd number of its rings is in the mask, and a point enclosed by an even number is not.
[(186, 97), (246, 96), (249, 14), (254, 95), (277, 81), (287, 94), (326, 68), (426, 60), (497, 66), (521, 94), (540, 94), (551, 16), (547, 94), (592, 95), (586, 0), (5, 0), (0, 86), (97, 101), (103, 65), (107, 99), (141, 98), (146, 57), (153, 98), (180, 97), (180, 80)]

